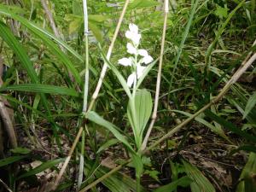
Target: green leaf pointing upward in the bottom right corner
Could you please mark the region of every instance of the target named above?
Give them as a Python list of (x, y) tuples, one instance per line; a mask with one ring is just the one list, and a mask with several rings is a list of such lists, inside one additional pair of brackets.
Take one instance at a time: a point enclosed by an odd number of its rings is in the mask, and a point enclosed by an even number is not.
[(256, 174), (256, 154), (250, 153), (246, 166), (243, 167), (240, 183), (236, 187), (236, 192), (255, 192), (256, 183), (253, 175)]

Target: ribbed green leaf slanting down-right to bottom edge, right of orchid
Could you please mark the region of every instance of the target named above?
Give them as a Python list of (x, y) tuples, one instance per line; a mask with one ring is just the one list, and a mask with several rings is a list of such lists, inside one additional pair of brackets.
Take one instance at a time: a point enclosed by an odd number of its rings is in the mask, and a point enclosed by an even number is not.
[(205, 192), (215, 192), (216, 190), (212, 186), (212, 183), (205, 177), (195, 166), (192, 166), (187, 161), (182, 160), (185, 167), (185, 172), (194, 181), (194, 184)]

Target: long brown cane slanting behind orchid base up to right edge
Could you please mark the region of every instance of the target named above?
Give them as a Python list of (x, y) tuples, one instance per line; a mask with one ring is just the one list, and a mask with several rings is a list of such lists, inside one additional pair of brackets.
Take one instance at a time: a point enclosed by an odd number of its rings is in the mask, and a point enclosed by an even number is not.
[[(251, 53), (250, 53), (251, 54)], [(236, 81), (241, 77), (241, 75), (243, 73), (245, 73), (247, 71), (247, 68), (250, 67), (253, 64), (253, 61), (256, 60), (256, 53), (254, 53), (248, 60), (247, 58), (245, 59), (245, 61), (243, 61), (241, 63), (241, 67), (236, 71), (236, 73), (234, 73), (234, 75), (231, 77), (231, 79), (225, 84), (224, 88), (219, 92), (218, 96), (214, 97), (212, 99), (211, 102), (207, 103), (206, 106), (204, 106), (203, 108), (201, 108), (199, 111), (197, 111), (196, 113), (194, 113), (191, 117), (189, 117), (188, 119), (184, 120), (180, 125), (177, 125), (176, 127), (174, 127), (172, 129), (172, 131), (169, 131), (165, 136), (161, 137), (159, 140), (157, 140), (156, 142), (154, 142), (152, 145), (150, 145), (148, 148), (145, 148), (142, 151), (142, 154), (147, 153), (149, 150), (153, 149), (154, 147), (156, 147), (158, 144), (162, 143), (163, 141), (165, 141), (168, 137), (171, 137), (175, 132), (179, 131), (184, 125), (188, 125), (189, 122), (193, 119), (195, 119), (195, 117), (197, 117), (198, 115), (200, 115), (201, 113), (203, 113), (205, 110), (207, 110), (207, 108), (210, 108), (213, 104), (215, 104), (216, 102), (218, 102), (220, 99), (222, 99), (222, 97), (227, 93), (228, 90), (230, 90), (230, 87), (236, 83)], [(105, 178), (109, 177), (110, 175), (112, 175), (114, 172), (118, 172), (123, 166), (125, 166), (127, 163), (131, 162), (131, 160), (127, 160), (125, 161), (124, 164), (119, 165), (115, 168), (113, 168), (113, 170), (111, 170), (110, 172), (106, 173), (105, 175), (103, 175), (102, 177), (96, 179), (93, 183), (90, 183), (88, 186), (86, 186), (84, 189), (80, 190), (79, 192), (84, 192), (87, 191), (91, 188), (93, 188), (94, 186), (96, 186), (97, 183), (102, 182)]]

